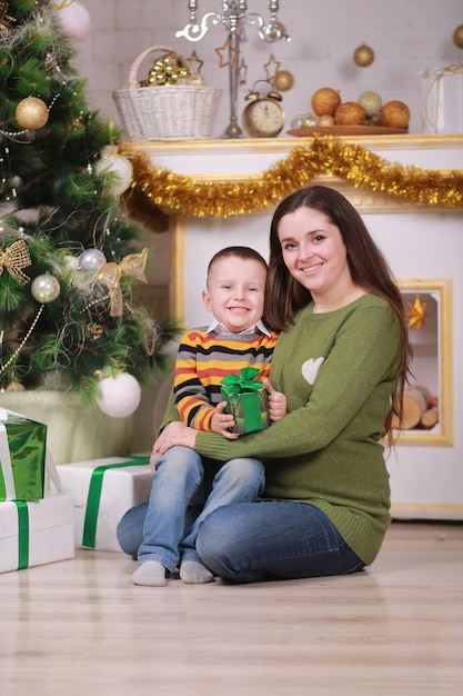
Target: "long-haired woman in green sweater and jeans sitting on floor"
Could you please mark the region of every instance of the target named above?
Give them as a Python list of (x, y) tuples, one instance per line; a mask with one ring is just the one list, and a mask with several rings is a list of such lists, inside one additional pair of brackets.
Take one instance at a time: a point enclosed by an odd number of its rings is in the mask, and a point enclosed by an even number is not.
[(264, 463), (262, 499), (223, 506), (199, 530), (213, 574), (252, 583), (360, 570), (390, 523), (381, 440), (401, 415), (411, 347), (387, 264), (341, 193), (313, 186), (276, 208), (264, 314), (281, 331), (270, 386), (285, 394), (288, 415), (228, 440), (170, 422), (168, 408), (153, 459), (180, 445)]

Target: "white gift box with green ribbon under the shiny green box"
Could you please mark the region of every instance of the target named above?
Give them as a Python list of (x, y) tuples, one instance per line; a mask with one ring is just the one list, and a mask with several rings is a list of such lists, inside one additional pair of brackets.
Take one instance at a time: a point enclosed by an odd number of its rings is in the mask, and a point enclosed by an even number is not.
[(0, 573), (41, 566), (74, 556), (72, 496), (0, 503)]

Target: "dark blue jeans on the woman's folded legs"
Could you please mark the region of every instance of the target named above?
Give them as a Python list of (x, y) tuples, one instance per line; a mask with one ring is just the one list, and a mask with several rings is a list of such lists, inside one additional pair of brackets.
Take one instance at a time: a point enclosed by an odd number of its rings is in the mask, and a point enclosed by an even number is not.
[(232, 583), (342, 575), (364, 567), (322, 510), (289, 500), (215, 510), (199, 531), (197, 549), (214, 575)]

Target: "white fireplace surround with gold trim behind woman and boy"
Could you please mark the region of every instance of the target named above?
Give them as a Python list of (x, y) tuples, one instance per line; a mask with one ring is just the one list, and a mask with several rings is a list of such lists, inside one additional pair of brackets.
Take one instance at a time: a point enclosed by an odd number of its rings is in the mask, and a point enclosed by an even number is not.
[[(353, 139), (344, 137), (343, 141)], [(440, 173), (463, 170), (463, 136), (362, 136), (354, 141), (391, 163)], [(286, 158), (293, 148), (310, 145), (311, 139), (279, 138), (131, 142), (123, 143), (121, 150), (142, 151), (160, 169), (213, 182), (259, 176)], [(453, 388), (463, 385), (463, 209), (414, 206), (355, 189), (332, 177), (316, 180), (339, 189), (358, 208), (395, 277), (411, 292), (407, 299), (413, 301), (414, 292), (422, 291), (430, 305), (435, 300), (439, 307), (439, 365), (434, 371), (445, 428), (435, 435), (415, 432), (405, 437), (406, 446), (397, 445), (390, 454), (393, 515), (463, 519), (463, 430), (459, 427), (463, 422), (463, 391)], [(185, 327), (208, 322), (201, 291), (210, 258), (230, 245), (251, 246), (268, 258), (272, 211), (269, 208), (227, 218), (170, 216), (170, 316)], [(148, 239), (153, 236), (147, 235)], [(427, 345), (424, 331), (417, 338)], [(426, 345), (420, 347), (424, 366), (429, 360)]]

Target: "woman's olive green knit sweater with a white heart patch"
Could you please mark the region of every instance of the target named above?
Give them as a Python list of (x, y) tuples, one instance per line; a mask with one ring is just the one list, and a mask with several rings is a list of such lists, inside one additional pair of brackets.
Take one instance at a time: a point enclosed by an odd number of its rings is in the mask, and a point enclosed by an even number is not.
[[(368, 565), (390, 523), (380, 440), (399, 359), (399, 322), (385, 300), (364, 295), (325, 314), (311, 304), (273, 354), (270, 381), (286, 395), (288, 415), (238, 440), (198, 432), (195, 450), (221, 461), (262, 459), (263, 498), (319, 507)], [(175, 419), (168, 409), (163, 425)]]

